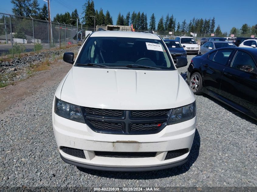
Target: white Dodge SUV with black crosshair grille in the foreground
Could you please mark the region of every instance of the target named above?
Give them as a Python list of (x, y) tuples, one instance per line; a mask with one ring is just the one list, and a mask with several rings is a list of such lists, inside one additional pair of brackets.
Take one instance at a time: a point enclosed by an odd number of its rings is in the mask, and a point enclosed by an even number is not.
[(154, 34), (98, 31), (58, 86), (52, 109), (61, 159), (109, 171), (158, 170), (186, 162), (196, 130), (195, 96)]

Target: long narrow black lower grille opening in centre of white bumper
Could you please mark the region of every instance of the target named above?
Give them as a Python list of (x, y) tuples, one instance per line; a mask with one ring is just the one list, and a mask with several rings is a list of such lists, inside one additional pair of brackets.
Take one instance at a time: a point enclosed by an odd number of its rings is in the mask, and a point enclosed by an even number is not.
[(155, 157), (156, 152), (111, 152), (111, 151), (95, 151), (95, 155), (99, 157), (116, 157), (116, 158), (142, 158)]

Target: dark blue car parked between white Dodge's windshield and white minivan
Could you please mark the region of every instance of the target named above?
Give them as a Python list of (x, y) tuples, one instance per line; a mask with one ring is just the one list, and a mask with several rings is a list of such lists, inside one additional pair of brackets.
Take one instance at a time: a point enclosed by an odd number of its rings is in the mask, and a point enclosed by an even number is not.
[(187, 57), (186, 51), (185, 49), (181, 46), (181, 44), (179, 43), (179, 41), (177, 40), (171, 40), (171, 39), (164, 39), (163, 40), (165, 42), (165, 44), (167, 45), (169, 52), (172, 56), (172, 59), (174, 61), (174, 63), (176, 63), (177, 61), (177, 57)]

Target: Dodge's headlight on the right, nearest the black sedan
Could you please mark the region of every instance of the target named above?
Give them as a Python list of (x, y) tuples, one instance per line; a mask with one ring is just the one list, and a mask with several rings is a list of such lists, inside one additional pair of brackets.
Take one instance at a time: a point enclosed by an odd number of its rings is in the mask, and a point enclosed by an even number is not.
[(168, 125), (181, 123), (196, 116), (196, 102), (172, 110)]

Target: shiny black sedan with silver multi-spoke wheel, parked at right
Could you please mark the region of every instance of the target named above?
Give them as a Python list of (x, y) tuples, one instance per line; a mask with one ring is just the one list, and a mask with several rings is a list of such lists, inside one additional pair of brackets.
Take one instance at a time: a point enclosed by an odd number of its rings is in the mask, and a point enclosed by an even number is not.
[(215, 49), (194, 57), (187, 70), (196, 95), (207, 93), (257, 120), (257, 49)]

